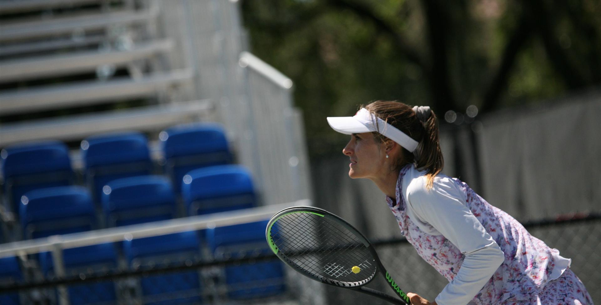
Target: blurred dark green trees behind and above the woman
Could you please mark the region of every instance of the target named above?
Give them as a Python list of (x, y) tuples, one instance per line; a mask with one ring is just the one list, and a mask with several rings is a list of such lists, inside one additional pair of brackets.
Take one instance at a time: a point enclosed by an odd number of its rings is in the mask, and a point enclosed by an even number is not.
[(601, 84), (598, 0), (244, 0), (242, 13), (252, 52), (294, 81), (313, 156), (341, 147), (325, 116), (369, 101), (441, 118)]

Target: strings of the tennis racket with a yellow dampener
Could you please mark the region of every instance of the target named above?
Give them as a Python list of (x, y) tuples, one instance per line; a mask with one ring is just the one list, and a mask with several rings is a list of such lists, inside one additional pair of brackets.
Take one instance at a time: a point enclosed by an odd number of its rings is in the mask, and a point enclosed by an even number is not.
[[(280, 255), (313, 276), (360, 285), (376, 272), (368, 247), (337, 222), (311, 213), (291, 213), (279, 218), (273, 228), (271, 238)], [(359, 273), (352, 272), (355, 266)]]

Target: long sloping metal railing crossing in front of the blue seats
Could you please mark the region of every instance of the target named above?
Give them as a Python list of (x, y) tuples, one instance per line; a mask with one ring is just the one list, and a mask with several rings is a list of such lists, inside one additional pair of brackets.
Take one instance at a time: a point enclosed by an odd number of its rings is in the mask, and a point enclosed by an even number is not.
[[(224, 213), (213, 213), (200, 216), (191, 216), (180, 219), (163, 220), (160, 222), (142, 223), (138, 225), (123, 226), (117, 228), (99, 229), (95, 231), (54, 235), (47, 238), (38, 238), (35, 240), (17, 241), (13, 243), (2, 244), (0, 246), (0, 258), (17, 256), (26, 258), (29, 255), (37, 253), (51, 252), (53, 264), (53, 278), (47, 279), (38, 276), (38, 280), (31, 278), (27, 282), (13, 283), (5, 285), (0, 283), (0, 294), (26, 291), (28, 289), (43, 289), (55, 287), (58, 291), (58, 304), (69, 304), (68, 285), (81, 285), (85, 282), (102, 282), (103, 280), (126, 279), (132, 276), (141, 277), (153, 274), (176, 273), (177, 271), (191, 270), (191, 268), (210, 268), (218, 267), (231, 263), (231, 259), (222, 261), (185, 261), (181, 264), (169, 265), (166, 268), (144, 268), (141, 270), (113, 270), (102, 274), (79, 273), (75, 277), (69, 276), (66, 272), (65, 262), (63, 260), (63, 250), (78, 247), (91, 246), (94, 244), (117, 243), (120, 241), (133, 240), (136, 238), (153, 237), (158, 235), (167, 235), (177, 232), (198, 231), (203, 229), (213, 229), (221, 226), (238, 225), (241, 223), (251, 223), (261, 220), (267, 220), (278, 211), (296, 205), (311, 205), (309, 200), (288, 202), (285, 204), (269, 205), (245, 210), (228, 211)], [(257, 262), (262, 258), (259, 256), (237, 259), (237, 264), (244, 262)], [(39, 267), (35, 267), (37, 269)], [(35, 277), (33, 277), (35, 278)], [(93, 294), (94, 291), (91, 291)], [(23, 293), (25, 298), (32, 297), (31, 294)], [(32, 292), (35, 294), (35, 292)], [(93, 298), (93, 297), (92, 297)], [(52, 299), (52, 297), (50, 297)], [(29, 301), (31, 301), (30, 299)], [(37, 300), (40, 301), (40, 300)], [(46, 300), (47, 301), (47, 300)], [(35, 301), (34, 301), (35, 302)], [(27, 303), (27, 301), (25, 301)], [(24, 304), (25, 304), (24, 303)], [(52, 302), (51, 302), (52, 303)]]

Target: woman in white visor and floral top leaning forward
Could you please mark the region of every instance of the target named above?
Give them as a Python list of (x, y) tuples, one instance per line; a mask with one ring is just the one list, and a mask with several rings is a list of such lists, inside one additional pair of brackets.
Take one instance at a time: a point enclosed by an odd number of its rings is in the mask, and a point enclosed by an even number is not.
[(449, 281), (432, 302), (407, 294), (412, 304), (593, 304), (571, 259), (440, 174), (438, 121), (429, 107), (374, 101), (328, 123), (351, 134), (343, 149), (350, 178), (376, 184), (401, 234)]

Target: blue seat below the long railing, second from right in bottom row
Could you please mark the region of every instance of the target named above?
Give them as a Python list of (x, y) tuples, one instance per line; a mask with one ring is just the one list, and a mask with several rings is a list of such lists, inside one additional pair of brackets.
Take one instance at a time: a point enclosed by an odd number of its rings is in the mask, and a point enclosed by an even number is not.
[[(196, 231), (123, 242), (123, 253), (133, 269), (160, 268), (172, 264), (195, 262), (200, 258)], [(203, 301), (197, 270), (142, 277), (143, 304), (200, 304)]]

